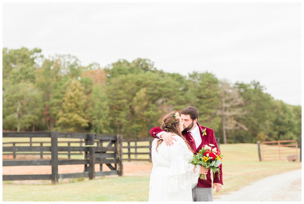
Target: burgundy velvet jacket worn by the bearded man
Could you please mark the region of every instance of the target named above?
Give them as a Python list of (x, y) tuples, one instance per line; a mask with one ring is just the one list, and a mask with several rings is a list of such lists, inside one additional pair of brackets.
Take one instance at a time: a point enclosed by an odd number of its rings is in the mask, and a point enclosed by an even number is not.
[[(199, 147), (197, 149), (195, 146), (195, 141), (194, 139), (191, 137), (189, 137), (189, 134), (187, 131), (182, 131), (182, 134), (185, 136), (186, 140), (189, 142), (192, 150), (197, 153), (203, 146), (203, 144), (214, 144), (216, 149), (219, 149), (219, 147), (217, 146), (217, 142), (214, 136), (214, 131), (208, 127), (206, 127), (206, 134), (207, 135), (203, 135), (202, 134), (202, 130), (205, 129), (205, 127), (200, 126), (198, 123), (196, 123), (199, 126), (199, 132), (201, 133), (201, 137), (202, 137), (202, 143), (199, 145)], [(162, 132), (163, 130), (160, 127), (153, 127), (150, 130), (150, 134), (152, 137), (157, 138), (156, 134), (159, 132)], [(174, 145), (174, 144), (173, 144)], [(219, 166), (219, 171), (220, 171), (220, 179), (218, 178), (218, 173), (215, 173), (215, 176), (213, 178), (213, 183), (220, 183), (223, 184), (223, 173), (222, 173), (222, 164)], [(199, 178), (199, 182), (197, 184), (198, 187), (202, 187), (202, 188), (211, 188), (212, 187), (212, 181), (211, 181), (211, 173), (210, 171), (208, 171), (207, 173), (207, 180), (203, 180)]]

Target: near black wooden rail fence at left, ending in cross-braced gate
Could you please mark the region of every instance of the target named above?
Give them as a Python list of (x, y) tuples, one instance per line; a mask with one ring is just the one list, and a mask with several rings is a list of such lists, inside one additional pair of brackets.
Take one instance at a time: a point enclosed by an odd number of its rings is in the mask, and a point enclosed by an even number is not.
[[(50, 152), (51, 159), (43, 160), (2, 160), (2, 166), (28, 166), (28, 165), (51, 165), (52, 174), (36, 174), (36, 175), (2, 175), (3, 181), (9, 180), (52, 180), (52, 184), (57, 184), (59, 178), (81, 178), (89, 177), (94, 179), (95, 176), (105, 175), (123, 175), (122, 165), (122, 136), (100, 135), (100, 134), (79, 134), (79, 133), (59, 133), (59, 132), (2, 132), (3, 138), (50, 138), (50, 146), (43, 146), (45, 142), (39, 142), (40, 146), (2, 146), (2, 152), (15, 155), (31, 154), (39, 152)], [(79, 146), (58, 146), (58, 138), (78, 138), (83, 139), (84, 146), (79, 142)], [(63, 142), (67, 144), (67, 142)], [(103, 145), (106, 143), (106, 145)], [(22, 143), (21, 143), (22, 144)], [(71, 143), (70, 143), (71, 144)], [(58, 159), (58, 154), (71, 151), (84, 152), (84, 159)], [(61, 153), (60, 153), (61, 152)], [(80, 173), (58, 174), (58, 165), (85, 165), (85, 171)], [(95, 164), (100, 164), (100, 171), (95, 172)], [(110, 171), (102, 171), (102, 164), (106, 164)], [(112, 165), (114, 164), (114, 166)]]

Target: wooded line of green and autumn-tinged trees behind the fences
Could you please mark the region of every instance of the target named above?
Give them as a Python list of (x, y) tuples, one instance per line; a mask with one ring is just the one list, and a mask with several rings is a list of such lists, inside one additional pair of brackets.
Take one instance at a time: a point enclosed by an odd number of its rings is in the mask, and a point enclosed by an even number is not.
[(301, 106), (275, 100), (259, 82), (158, 70), (148, 59), (82, 66), (71, 55), (2, 49), (5, 131), (61, 131), (150, 138), (172, 110), (199, 110), (198, 123), (224, 143), (301, 137)]

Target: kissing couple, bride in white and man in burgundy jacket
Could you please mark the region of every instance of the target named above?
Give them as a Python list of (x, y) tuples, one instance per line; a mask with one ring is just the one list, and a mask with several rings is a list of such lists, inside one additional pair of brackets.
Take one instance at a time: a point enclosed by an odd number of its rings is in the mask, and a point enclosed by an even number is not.
[[(204, 144), (218, 145), (214, 131), (197, 123), (199, 111), (188, 106), (167, 114), (161, 127), (153, 127), (153, 168), (150, 176), (149, 201), (213, 201), (212, 189), (219, 192), (223, 185), (222, 164), (220, 176), (215, 173), (213, 185), (209, 168), (192, 165), (193, 154)], [(205, 174), (206, 180), (199, 178)]]

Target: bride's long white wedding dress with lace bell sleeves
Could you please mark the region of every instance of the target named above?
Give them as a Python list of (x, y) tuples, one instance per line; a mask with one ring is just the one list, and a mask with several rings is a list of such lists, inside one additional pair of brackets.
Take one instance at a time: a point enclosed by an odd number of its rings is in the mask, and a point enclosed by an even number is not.
[(159, 139), (152, 143), (149, 201), (192, 201), (192, 188), (198, 182), (200, 166), (194, 170), (195, 166), (188, 163), (193, 153), (181, 137), (174, 138), (177, 141), (173, 145), (162, 142), (157, 152)]

